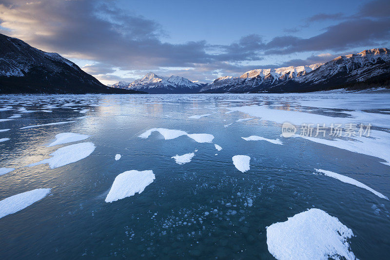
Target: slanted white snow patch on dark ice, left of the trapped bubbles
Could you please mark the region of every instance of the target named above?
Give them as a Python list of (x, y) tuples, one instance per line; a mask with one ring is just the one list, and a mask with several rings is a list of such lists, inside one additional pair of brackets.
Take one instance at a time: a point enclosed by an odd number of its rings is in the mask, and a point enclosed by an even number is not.
[(133, 196), (136, 192), (140, 194), (155, 179), (152, 170), (131, 170), (121, 173), (115, 178), (105, 202), (121, 200)]

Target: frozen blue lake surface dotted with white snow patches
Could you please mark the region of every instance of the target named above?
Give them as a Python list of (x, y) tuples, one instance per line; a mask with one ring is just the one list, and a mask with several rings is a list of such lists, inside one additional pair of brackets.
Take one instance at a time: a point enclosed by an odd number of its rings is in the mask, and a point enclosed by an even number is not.
[(390, 94), (0, 96), (2, 259), (387, 259), (389, 184)]

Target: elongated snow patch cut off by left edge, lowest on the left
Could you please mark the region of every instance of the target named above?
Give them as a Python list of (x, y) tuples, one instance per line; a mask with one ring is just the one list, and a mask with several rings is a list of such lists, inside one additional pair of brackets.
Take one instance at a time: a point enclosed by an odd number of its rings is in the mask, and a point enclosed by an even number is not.
[(42, 200), (49, 193), (50, 189), (35, 189), (0, 200), (0, 219)]

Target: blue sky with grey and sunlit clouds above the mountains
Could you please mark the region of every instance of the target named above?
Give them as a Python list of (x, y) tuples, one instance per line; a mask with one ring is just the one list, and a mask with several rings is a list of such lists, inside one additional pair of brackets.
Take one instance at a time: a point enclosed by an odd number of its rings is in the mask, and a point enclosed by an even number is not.
[(390, 0), (0, 0), (0, 33), (105, 84), (149, 71), (210, 82), (390, 47)]

